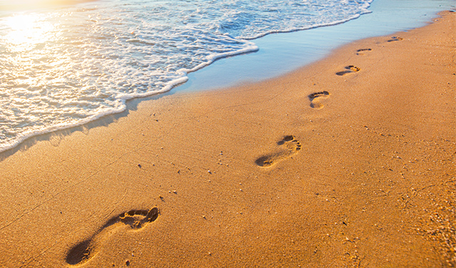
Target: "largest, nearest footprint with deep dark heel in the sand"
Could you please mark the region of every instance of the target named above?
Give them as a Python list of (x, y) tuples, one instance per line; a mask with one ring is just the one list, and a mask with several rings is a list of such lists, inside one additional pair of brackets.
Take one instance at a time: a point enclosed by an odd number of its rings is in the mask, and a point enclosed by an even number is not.
[(149, 222), (157, 220), (158, 209), (151, 210), (130, 210), (110, 218), (92, 237), (76, 244), (66, 255), (66, 262), (71, 265), (78, 265), (88, 262), (95, 255), (95, 246), (99, 239), (108, 237), (118, 227), (129, 225), (132, 230), (140, 230)]

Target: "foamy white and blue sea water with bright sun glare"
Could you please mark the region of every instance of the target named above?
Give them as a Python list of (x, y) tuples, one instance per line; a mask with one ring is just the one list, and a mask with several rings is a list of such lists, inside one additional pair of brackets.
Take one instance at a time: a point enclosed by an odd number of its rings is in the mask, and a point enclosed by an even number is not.
[(31, 10), (18, 1), (14, 10), (0, 1), (0, 152), (169, 91), (217, 58), (257, 51), (260, 36), (356, 19), (372, 0), (100, 0), (41, 9), (37, 0)]

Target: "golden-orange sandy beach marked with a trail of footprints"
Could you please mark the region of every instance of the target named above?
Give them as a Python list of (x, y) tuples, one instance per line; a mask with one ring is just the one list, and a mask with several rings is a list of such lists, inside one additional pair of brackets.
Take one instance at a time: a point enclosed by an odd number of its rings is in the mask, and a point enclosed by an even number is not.
[(455, 267), (456, 13), (0, 162), (0, 267)]

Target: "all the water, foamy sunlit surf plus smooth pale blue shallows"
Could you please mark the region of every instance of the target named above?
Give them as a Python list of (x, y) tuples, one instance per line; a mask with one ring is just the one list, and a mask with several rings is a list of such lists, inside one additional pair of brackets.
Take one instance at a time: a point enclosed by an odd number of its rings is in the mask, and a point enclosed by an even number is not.
[(5, 2), (0, 152), (33, 135), (119, 113), (130, 98), (182, 83), (176, 90), (278, 76), (342, 43), (421, 26), (455, 4), (100, 0), (13, 11)]

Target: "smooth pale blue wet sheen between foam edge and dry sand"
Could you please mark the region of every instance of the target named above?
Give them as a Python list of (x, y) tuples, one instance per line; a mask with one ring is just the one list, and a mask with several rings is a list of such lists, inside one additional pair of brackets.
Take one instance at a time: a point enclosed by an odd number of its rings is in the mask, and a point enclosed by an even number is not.
[(439, 11), (455, 10), (455, 0), (375, 0), (371, 13), (335, 26), (278, 33), (255, 40), (259, 51), (224, 58), (189, 73), (176, 91), (202, 91), (257, 82), (318, 61), (343, 44), (425, 26)]

